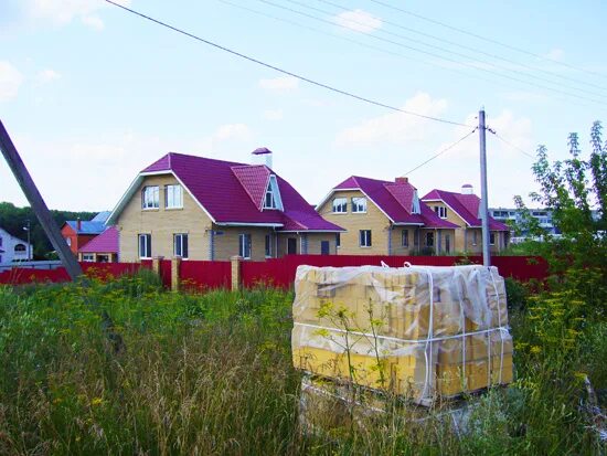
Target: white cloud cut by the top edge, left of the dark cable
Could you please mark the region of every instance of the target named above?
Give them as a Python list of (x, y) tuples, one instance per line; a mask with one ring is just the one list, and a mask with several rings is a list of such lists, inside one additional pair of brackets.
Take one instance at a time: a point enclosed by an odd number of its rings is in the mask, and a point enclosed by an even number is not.
[[(115, 0), (125, 7), (130, 0)], [(104, 22), (95, 13), (110, 4), (98, 0), (25, 0), (25, 12), (33, 19), (53, 25), (66, 25), (74, 19), (94, 29), (103, 30)]]

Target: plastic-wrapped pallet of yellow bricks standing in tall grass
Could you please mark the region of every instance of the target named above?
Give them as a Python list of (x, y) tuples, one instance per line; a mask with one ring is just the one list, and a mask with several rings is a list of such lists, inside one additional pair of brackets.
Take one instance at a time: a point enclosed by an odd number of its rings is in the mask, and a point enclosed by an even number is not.
[(512, 382), (503, 278), (482, 266), (299, 266), (292, 356), (315, 375), (430, 404)]

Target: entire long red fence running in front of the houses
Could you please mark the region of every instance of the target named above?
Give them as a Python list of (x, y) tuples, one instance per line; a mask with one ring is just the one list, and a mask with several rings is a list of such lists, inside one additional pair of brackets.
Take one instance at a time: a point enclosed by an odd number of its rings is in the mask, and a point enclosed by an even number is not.
[[(452, 266), (456, 264), (481, 264), (480, 256), (375, 256), (375, 255), (287, 255), (283, 258), (270, 258), (265, 262), (242, 261), (239, 264), (241, 284), (251, 288), (259, 284), (289, 288), (299, 265), (311, 266), (363, 266), (381, 265), (402, 267), (406, 262), (423, 266)], [(544, 280), (549, 275), (549, 266), (545, 259), (537, 256), (496, 256), (491, 258), (503, 277), (512, 277), (520, 282), (531, 279)], [(106, 279), (123, 274), (135, 273), (140, 267), (151, 268), (152, 262), (141, 263), (82, 263), (87, 275), (95, 275)], [(181, 287), (188, 290), (205, 290), (212, 288), (230, 288), (232, 283), (231, 262), (203, 262), (203, 261), (159, 261), (159, 274), (162, 284), (171, 287), (172, 268), (179, 268)], [(64, 268), (54, 271), (13, 268), (0, 273), (0, 284), (21, 285), (44, 282), (67, 282)], [(179, 288), (179, 287), (178, 287)], [(177, 289), (177, 288), (174, 288)]]

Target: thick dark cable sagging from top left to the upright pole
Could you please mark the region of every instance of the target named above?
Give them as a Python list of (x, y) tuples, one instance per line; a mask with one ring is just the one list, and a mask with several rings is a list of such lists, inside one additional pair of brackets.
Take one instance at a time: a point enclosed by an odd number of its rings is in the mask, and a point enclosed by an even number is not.
[(201, 38), (201, 36), (194, 35), (193, 33), (187, 32), (187, 31), (184, 31), (184, 30), (182, 30), (182, 29), (179, 29), (179, 28), (177, 28), (177, 26), (170, 25), (170, 24), (168, 24), (168, 23), (166, 23), (166, 22), (162, 22), (162, 21), (160, 21), (160, 20), (158, 20), (158, 19), (155, 19), (155, 18), (152, 18), (152, 17), (149, 17), (149, 15), (147, 15), (147, 14), (143, 14), (143, 13), (139, 12), (139, 11), (136, 11), (136, 10), (130, 9), (130, 8), (128, 8), (128, 7), (125, 7), (125, 6), (123, 6), (123, 4), (116, 3), (116, 2), (113, 1), (113, 0), (105, 0), (105, 1), (106, 1), (107, 3), (110, 3), (110, 4), (115, 6), (115, 7), (117, 7), (117, 8), (120, 8), (120, 9), (123, 9), (123, 10), (125, 10), (125, 11), (128, 11), (128, 12), (130, 12), (131, 14), (135, 14), (135, 15), (141, 18), (141, 19), (146, 19), (146, 20), (148, 20), (148, 21), (150, 21), (150, 22), (153, 22), (153, 23), (156, 23), (156, 24), (158, 24), (158, 25), (161, 25), (161, 26), (164, 26), (164, 28), (167, 28), (167, 29), (169, 29), (169, 30), (172, 30), (173, 32), (180, 33), (180, 34), (182, 34), (182, 35), (185, 35), (185, 36), (188, 36), (188, 38), (191, 38), (191, 39), (196, 40), (196, 41), (199, 41), (199, 42), (201, 42), (201, 43), (204, 43), (204, 44), (207, 44), (207, 45), (213, 46), (213, 47), (215, 47), (215, 49), (219, 49), (219, 50), (221, 50), (221, 51), (227, 52), (227, 53), (230, 53), (230, 54), (232, 54), (232, 55), (236, 55), (236, 56), (238, 56), (238, 57), (241, 57), (241, 59), (244, 59), (244, 60), (247, 60), (247, 61), (249, 61), (249, 62), (256, 63), (257, 65), (265, 66), (266, 68), (270, 68), (270, 70), (274, 70), (274, 71), (276, 71), (276, 72), (286, 74), (286, 75), (288, 75), (288, 76), (296, 77), (296, 78), (298, 78), (298, 79), (300, 79), (300, 81), (303, 81), (303, 82), (306, 82), (306, 83), (308, 83), (308, 84), (316, 85), (316, 86), (318, 86), (318, 87), (322, 87), (322, 88), (326, 88), (326, 89), (328, 89), (328, 91), (331, 91), (331, 92), (334, 92), (334, 93), (338, 93), (338, 94), (341, 94), (341, 95), (348, 96), (348, 97), (350, 97), (350, 98), (354, 98), (354, 99), (358, 99), (358, 100), (360, 100), (360, 102), (364, 102), (364, 103), (368, 103), (368, 104), (371, 104), (371, 105), (374, 105), (374, 106), (380, 106), (380, 107), (383, 107), (383, 108), (386, 108), (386, 109), (391, 109), (391, 110), (394, 110), (394, 112), (407, 114), (407, 115), (409, 115), (409, 116), (420, 117), (420, 118), (425, 118), (425, 119), (428, 119), (428, 120), (435, 120), (435, 121), (439, 121), (439, 123), (441, 123), (441, 124), (456, 125), (456, 126), (459, 126), (459, 127), (470, 127), (469, 125), (461, 124), (461, 123), (458, 123), (458, 121), (447, 120), (447, 119), (439, 118), (439, 117), (427, 116), (427, 115), (425, 115), (425, 114), (419, 114), (419, 113), (414, 113), (414, 112), (412, 112), (412, 110), (402, 109), (402, 108), (398, 108), (398, 107), (395, 107), (395, 106), (387, 105), (387, 104), (382, 103), (382, 102), (376, 102), (376, 100), (374, 100), (374, 99), (366, 98), (366, 97), (363, 97), (363, 96), (361, 96), (361, 95), (353, 94), (353, 93), (351, 93), (351, 92), (343, 91), (343, 89), (341, 89), (341, 88), (337, 88), (337, 87), (334, 87), (334, 86), (331, 86), (331, 85), (328, 85), (328, 84), (324, 84), (324, 83), (320, 83), (320, 82), (315, 81), (315, 79), (310, 79), (309, 77), (301, 76), (301, 75), (299, 75), (299, 74), (297, 74), (297, 73), (292, 73), (292, 72), (287, 71), (287, 70), (283, 70), (283, 68), (280, 68), (280, 67), (278, 67), (278, 66), (271, 65), (271, 64), (269, 64), (269, 63), (265, 63), (265, 62), (263, 62), (263, 61), (260, 61), (260, 60), (258, 60), (258, 59), (252, 57), (252, 56), (249, 56), (249, 55), (246, 55), (246, 54), (243, 54), (243, 53), (241, 53), (241, 52), (234, 51), (234, 50), (232, 50), (232, 49), (230, 49), (230, 47), (226, 47), (226, 46), (223, 46), (223, 45), (221, 45), (221, 44), (214, 43), (214, 42), (212, 42), (212, 41), (210, 41), (210, 40), (205, 40), (205, 39), (203, 39), (203, 38)]

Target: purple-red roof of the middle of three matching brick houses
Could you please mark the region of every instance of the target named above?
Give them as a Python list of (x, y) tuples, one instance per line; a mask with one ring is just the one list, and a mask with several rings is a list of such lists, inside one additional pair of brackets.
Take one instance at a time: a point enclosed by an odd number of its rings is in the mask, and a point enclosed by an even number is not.
[(362, 191), (395, 224), (416, 224), (436, 229), (457, 227), (456, 224), (440, 219), (422, 202), (419, 202), (420, 213), (413, 213), (413, 203), (417, 189), (409, 182), (391, 182), (351, 176), (333, 188), (333, 191), (339, 190)]

